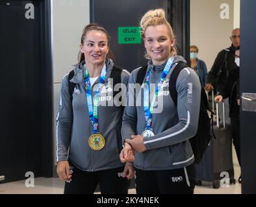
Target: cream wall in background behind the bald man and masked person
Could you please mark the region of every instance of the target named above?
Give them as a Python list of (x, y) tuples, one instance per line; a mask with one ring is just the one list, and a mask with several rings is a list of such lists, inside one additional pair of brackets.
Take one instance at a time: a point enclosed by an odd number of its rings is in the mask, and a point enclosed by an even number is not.
[[(220, 18), (223, 3), (229, 5), (229, 19)], [(190, 45), (198, 46), (198, 57), (205, 61), (209, 71), (218, 52), (231, 45), (233, 8), (234, 0), (190, 1)]]

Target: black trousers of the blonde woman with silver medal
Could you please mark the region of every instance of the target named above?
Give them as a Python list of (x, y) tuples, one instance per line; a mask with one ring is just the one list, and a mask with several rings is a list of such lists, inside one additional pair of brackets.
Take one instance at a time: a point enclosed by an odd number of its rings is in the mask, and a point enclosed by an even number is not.
[(135, 169), (137, 194), (193, 194), (194, 164), (171, 170)]

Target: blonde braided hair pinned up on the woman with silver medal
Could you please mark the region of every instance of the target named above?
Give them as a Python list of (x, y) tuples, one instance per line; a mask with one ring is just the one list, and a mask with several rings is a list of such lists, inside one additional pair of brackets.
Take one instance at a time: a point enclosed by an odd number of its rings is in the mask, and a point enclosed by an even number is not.
[[(165, 17), (165, 12), (162, 8), (156, 9), (156, 10), (149, 10), (144, 14), (140, 21), (140, 27), (141, 27), (141, 36), (142, 38), (145, 38), (145, 31), (146, 28), (149, 26), (157, 26), (157, 25), (166, 25), (168, 28), (168, 32), (170, 34), (170, 38), (175, 41), (175, 36), (172, 30), (172, 26)], [(176, 56), (177, 55), (177, 49), (174, 46), (171, 46), (170, 50), (170, 56)], [(149, 54), (146, 53), (145, 58), (150, 59)]]

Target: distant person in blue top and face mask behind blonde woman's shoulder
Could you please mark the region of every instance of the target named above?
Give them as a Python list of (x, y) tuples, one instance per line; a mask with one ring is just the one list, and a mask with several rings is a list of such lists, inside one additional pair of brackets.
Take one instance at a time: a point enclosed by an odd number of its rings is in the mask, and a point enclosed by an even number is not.
[(201, 83), (201, 87), (205, 87), (205, 83), (207, 80), (207, 66), (203, 60), (198, 59), (198, 47), (196, 45), (190, 46), (190, 67), (196, 71), (198, 74), (198, 78)]

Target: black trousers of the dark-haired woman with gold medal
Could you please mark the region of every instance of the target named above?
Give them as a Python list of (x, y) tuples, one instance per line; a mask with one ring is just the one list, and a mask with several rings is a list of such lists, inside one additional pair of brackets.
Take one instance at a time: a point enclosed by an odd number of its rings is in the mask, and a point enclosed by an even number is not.
[(102, 194), (127, 194), (129, 180), (122, 177), (123, 169), (124, 167), (88, 172), (73, 168), (71, 182), (65, 182), (64, 194), (92, 194), (97, 184)]

